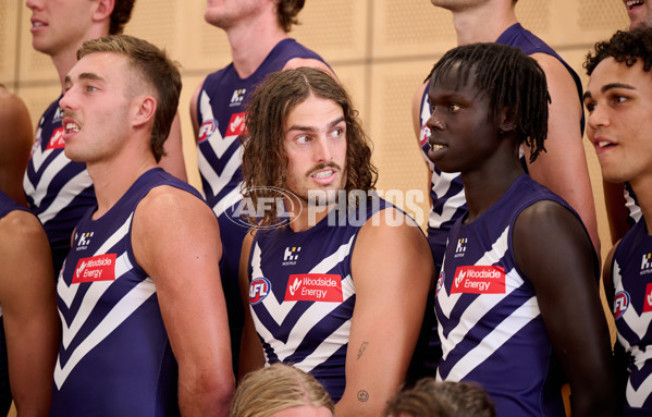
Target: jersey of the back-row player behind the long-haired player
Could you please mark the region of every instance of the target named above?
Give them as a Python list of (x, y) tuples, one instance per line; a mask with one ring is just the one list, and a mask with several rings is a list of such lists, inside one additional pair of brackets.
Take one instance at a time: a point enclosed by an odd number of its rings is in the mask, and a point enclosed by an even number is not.
[(197, 101), (197, 122), (200, 126), (197, 137), (197, 160), (204, 195), (220, 222), (224, 260), (221, 275), (229, 310), (234, 369), (237, 367), (244, 322), (237, 278), (239, 255), (248, 231), (248, 228), (243, 226), (243, 222), (238, 221), (236, 214), (241, 212), (237, 207), (242, 201), (241, 182), (243, 181), (241, 171), (243, 148), (238, 136), (245, 128), (245, 108), (249, 94), (269, 74), (281, 71), (293, 58), (310, 58), (323, 62), (321, 57), (296, 40), (283, 39), (247, 78), (243, 79), (237, 75), (233, 63), (209, 74), (201, 86)]

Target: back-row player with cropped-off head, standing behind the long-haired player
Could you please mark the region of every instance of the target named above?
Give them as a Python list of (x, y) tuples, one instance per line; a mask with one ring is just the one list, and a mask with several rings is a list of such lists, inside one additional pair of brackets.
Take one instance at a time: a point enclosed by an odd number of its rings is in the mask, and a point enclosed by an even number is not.
[(233, 62), (209, 74), (190, 99), (201, 186), (222, 231), (222, 285), (229, 308), (233, 367), (244, 320), (238, 267), (247, 229), (241, 225), (242, 144), (245, 105), (254, 88), (276, 71), (313, 66), (331, 71), (323, 59), (287, 34), (305, 0), (208, 0), (204, 19), (226, 33)]

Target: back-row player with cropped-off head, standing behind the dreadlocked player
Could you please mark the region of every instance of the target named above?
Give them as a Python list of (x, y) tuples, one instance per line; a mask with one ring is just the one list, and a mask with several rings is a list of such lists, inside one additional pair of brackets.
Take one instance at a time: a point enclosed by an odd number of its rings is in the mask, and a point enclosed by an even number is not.
[[(545, 152), (529, 158), (532, 149), (526, 144), (521, 162), (531, 177), (564, 198), (580, 214), (591, 241), (600, 254), (595, 204), (585, 148), (582, 145), (582, 86), (579, 76), (550, 46), (524, 28), (516, 19), (516, 0), (431, 0), (432, 4), (453, 13), (457, 45), (497, 42), (518, 47), (532, 57), (545, 72), (551, 102), (549, 105)], [(428, 221), (428, 240), (435, 263), (441, 267), (448, 231), (466, 209), (459, 173), (442, 172), (428, 159), (430, 102), (428, 81), (419, 87), (413, 100), (414, 127), (432, 173), (428, 188), (432, 208)]]

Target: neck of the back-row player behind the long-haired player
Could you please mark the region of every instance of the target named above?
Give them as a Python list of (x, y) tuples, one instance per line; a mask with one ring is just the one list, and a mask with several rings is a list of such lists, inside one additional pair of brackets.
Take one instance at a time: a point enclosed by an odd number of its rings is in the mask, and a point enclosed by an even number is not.
[(274, 46), (287, 38), (275, 19), (275, 15), (262, 14), (226, 30), (233, 66), (241, 78), (251, 75)]

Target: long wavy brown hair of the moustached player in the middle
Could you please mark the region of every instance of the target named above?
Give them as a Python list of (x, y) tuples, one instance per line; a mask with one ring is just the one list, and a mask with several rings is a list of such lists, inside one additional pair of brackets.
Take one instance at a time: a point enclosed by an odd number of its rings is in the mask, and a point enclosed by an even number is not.
[[(256, 88), (247, 107), (247, 135), (243, 136), (243, 193), (255, 207), (259, 198), (273, 198), (273, 191), (284, 188), (287, 154), (283, 147), (287, 114), (310, 95), (333, 100), (342, 107), (346, 122), (346, 192), (374, 189), (378, 171), (371, 162), (371, 144), (362, 131), (358, 112), (337, 81), (321, 70), (298, 68), (271, 74)], [(278, 223), (276, 208), (265, 211), (251, 224)]]

